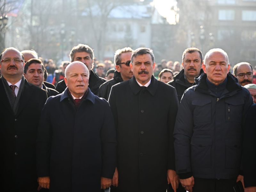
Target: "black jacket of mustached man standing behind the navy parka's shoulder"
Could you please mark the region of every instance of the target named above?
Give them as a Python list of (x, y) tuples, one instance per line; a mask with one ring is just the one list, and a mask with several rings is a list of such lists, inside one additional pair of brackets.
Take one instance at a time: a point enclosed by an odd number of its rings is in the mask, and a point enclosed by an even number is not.
[[(200, 75), (202, 73), (204, 73), (203, 69), (200, 70)], [(180, 100), (182, 98), (182, 95), (183, 95), (184, 91), (189, 88), (189, 86), (187, 84), (185, 84), (184, 69), (182, 69), (180, 71), (180, 73), (175, 75), (173, 77), (173, 80), (168, 82), (168, 84), (172, 85), (176, 89), (178, 100), (179, 100), (179, 103), (180, 103)], [(195, 84), (193, 84), (193, 85), (195, 85)]]

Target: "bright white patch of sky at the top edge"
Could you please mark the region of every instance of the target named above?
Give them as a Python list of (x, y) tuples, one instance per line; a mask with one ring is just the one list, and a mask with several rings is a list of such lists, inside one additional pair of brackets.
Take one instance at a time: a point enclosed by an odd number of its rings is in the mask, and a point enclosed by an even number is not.
[(154, 0), (153, 5), (159, 14), (166, 18), (168, 23), (176, 24), (175, 11), (171, 10), (172, 6), (174, 6), (174, 10), (177, 9), (176, 0)]

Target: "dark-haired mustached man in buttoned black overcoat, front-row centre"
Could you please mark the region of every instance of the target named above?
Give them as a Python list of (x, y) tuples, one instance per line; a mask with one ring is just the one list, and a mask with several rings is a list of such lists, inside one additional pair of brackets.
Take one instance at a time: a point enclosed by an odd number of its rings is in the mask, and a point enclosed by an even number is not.
[(168, 183), (174, 191), (178, 187), (172, 132), (179, 102), (175, 89), (152, 75), (154, 60), (152, 50), (136, 49), (133, 77), (112, 86), (109, 95), (117, 130), (112, 184), (118, 192), (166, 192)]

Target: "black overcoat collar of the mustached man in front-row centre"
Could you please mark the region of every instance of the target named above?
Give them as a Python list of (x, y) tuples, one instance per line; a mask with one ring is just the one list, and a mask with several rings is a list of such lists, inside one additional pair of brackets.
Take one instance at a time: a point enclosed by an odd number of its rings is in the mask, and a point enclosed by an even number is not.
[[(141, 88), (140, 88), (140, 85), (137, 83), (135, 77), (133, 76), (129, 81), (130, 81), (129, 84), (132, 88), (132, 92), (135, 95), (138, 94), (140, 92)], [(148, 90), (148, 92), (154, 96), (156, 93), (157, 85), (158, 85), (158, 82), (157, 82), (156, 78), (152, 75), (151, 83), (148, 85), (148, 87), (145, 90)]]

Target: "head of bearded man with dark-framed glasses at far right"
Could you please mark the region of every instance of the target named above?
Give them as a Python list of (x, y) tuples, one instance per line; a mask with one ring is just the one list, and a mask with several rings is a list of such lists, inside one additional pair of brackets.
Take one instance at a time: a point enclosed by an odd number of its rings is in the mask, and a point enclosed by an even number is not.
[(237, 63), (233, 68), (234, 76), (240, 85), (244, 86), (252, 83), (252, 65), (247, 62)]

